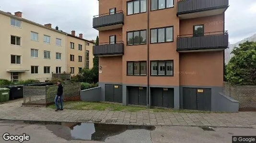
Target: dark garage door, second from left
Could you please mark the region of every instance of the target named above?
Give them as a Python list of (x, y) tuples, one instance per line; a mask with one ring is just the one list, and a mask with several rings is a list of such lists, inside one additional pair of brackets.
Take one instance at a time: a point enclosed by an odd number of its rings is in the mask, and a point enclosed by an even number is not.
[(147, 105), (147, 88), (128, 86), (129, 104)]

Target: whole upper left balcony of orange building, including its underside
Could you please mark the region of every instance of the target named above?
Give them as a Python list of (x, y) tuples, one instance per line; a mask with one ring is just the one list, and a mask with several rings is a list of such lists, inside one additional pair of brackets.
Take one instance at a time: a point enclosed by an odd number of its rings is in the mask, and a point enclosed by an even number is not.
[(105, 13), (93, 16), (93, 28), (98, 31), (106, 31), (112, 29), (122, 28), (124, 24), (123, 11), (116, 11), (112, 13)]

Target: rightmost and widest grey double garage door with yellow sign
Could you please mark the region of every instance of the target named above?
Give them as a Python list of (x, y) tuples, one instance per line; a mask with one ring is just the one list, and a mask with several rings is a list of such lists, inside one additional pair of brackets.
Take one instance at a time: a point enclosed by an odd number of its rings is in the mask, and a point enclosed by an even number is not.
[(183, 109), (211, 111), (211, 89), (183, 88)]

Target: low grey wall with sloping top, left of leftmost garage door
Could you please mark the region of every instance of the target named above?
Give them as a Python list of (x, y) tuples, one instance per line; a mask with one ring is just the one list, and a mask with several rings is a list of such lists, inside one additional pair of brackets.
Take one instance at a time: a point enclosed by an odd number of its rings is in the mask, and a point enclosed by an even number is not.
[[(105, 86), (104, 86), (105, 87)], [(95, 87), (80, 92), (80, 100), (87, 102), (100, 102), (101, 101), (101, 87)]]

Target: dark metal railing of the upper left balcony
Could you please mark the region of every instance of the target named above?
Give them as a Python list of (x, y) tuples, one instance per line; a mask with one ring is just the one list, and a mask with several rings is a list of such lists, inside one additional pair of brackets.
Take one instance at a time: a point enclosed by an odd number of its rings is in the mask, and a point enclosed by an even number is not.
[(99, 28), (99, 27), (110, 26), (115, 24), (123, 24), (123, 23), (124, 23), (124, 14), (122, 10), (93, 16), (93, 28)]

